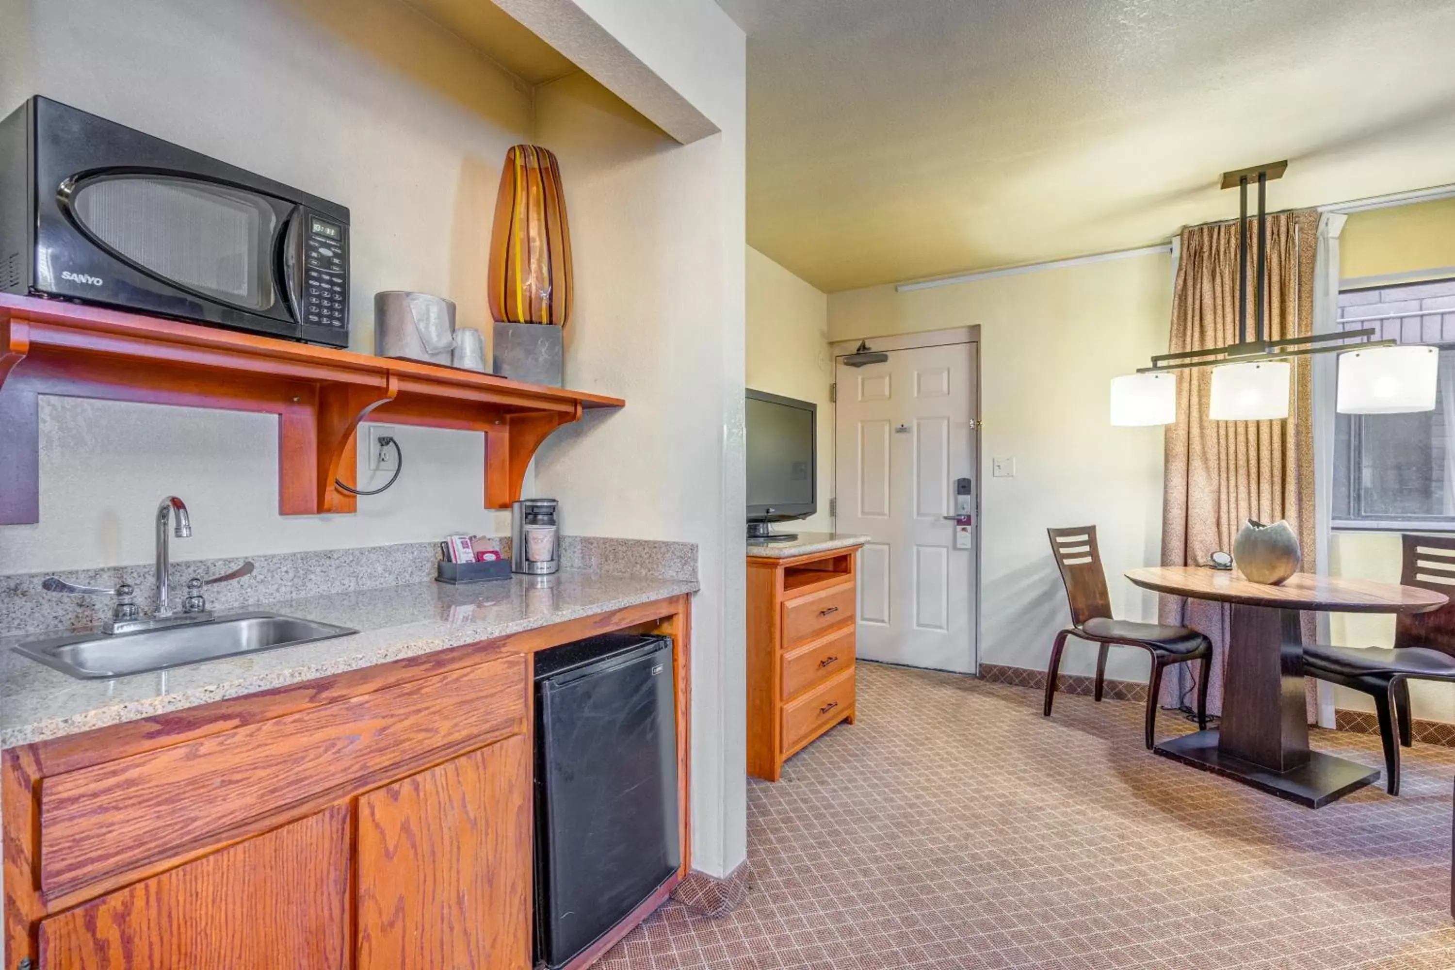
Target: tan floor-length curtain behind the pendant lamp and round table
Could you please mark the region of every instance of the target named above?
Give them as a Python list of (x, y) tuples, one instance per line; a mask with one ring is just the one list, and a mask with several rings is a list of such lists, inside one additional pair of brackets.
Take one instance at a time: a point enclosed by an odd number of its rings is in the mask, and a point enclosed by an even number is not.
[[(1277, 212), (1267, 220), (1269, 339), (1305, 336), (1314, 321), (1314, 250), (1318, 212)], [(1254, 337), (1257, 223), (1248, 223), (1248, 339)], [(1195, 225), (1181, 233), (1168, 350), (1199, 350), (1238, 340), (1238, 224)], [(1288, 519), (1314, 563), (1314, 433), (1310, 359), (1295, 358), (1288, 420), (1216, 422), (1208, 417), (1212, 369), (1177, 375), (1177, 423), (1167, 428), (1163, 496), (1163, 564), (1206, 566), (1231, 551), (1245, 519)], [(1213, 641), (1209, 713), (1222, 711), (1228, 608), (1208, 601), (1161, 598), (1163, 622), (1195, 627)], [(1305, 637), (1312, 634), (1305, 617)], [(1163, 702), (1192, 697), (1190, 665), (1174, 668)]]

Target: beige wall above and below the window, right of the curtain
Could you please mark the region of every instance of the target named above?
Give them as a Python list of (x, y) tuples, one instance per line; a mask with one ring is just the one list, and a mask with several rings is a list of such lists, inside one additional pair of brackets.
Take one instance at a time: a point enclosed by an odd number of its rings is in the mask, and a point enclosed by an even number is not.
[[(1455, 266), (1455, 199), (1355, 212), (1339, 240), (1340, 275), (1347, 279)], [(1401, 541), (1397, 532), (1334, 532), (1328, 550), (1331, 576), (1400, 582)], [(1346, 647), (1394, 644), (1394, 618), (1331, 614), (1328, 637)], [(1455, 721), (1455, 686), (1413, 682), (1414, 716)], [(1372, 711), (1368, 695), (1334, 686), (1334, 705)]]

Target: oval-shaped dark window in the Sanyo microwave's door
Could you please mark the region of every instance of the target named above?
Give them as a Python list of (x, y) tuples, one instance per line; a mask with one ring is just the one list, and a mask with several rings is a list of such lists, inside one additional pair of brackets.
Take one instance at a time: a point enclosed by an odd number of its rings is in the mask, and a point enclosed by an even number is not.
[(247, 310), (274, 305), (268, 199), (205, 182), (105, 177), (71, 202), (81, 228), (138, 269)]

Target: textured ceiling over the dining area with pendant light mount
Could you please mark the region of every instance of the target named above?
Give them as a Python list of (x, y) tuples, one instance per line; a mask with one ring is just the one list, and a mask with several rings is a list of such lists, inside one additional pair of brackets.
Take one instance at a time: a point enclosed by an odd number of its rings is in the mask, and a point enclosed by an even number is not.
[(821, 289), (1129, 249), (1455, 182), (1451, 0), (719, 0), (748, 241)]

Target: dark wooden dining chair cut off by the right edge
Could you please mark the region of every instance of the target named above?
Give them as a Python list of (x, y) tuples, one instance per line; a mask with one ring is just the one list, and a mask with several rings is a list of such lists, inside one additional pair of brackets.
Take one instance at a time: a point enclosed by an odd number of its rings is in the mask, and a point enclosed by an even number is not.
[[(1455, 598), (1455, 537), (1404, 535), (1400, 583)], [(1304, 673), (1374, 698), (1384, 742), (1385, 790), (1400, 794), (1400, 746), (1414, 745), (1410, 681), (1455, 682), (1455, 599), (1427, 614), (1400, 614), (1392, 647), (1304, 647)], [(1398, 740), (1395, 739), (1398, 727)]]

